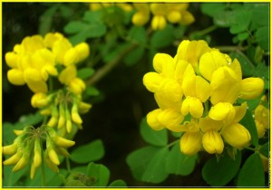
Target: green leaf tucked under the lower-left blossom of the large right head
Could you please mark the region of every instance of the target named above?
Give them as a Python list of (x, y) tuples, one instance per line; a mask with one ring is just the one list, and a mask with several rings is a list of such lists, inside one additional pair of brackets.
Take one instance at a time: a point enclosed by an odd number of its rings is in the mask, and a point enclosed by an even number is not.
[(153, 130), (147, 123), (146, 118), (141, 119), (140, 124), (141, 137), (151, 145), (164, 147), (167, 145), (168, 136), (167, 130)]

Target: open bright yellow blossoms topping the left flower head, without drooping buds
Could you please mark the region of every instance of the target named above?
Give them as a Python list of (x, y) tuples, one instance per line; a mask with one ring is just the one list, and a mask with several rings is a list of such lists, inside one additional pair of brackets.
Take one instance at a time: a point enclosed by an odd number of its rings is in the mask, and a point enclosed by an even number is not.
[(5, 62), (11, 68), (7, 79), (15, 85), (27, 84), (34, 93), (48, 91), (49, 75), (58, 76), (56, 66), (65, 69), (59, 75), (59, 81), (71, 91), (81, 94), (85, 90), (84, 82), (76, 77), (74, 64), (89, 56), (87, 43), (73, 45), (61, 33), (47, 33), (27, 36), (21, 44), (16, 44), (13, 52), (5, 53)]

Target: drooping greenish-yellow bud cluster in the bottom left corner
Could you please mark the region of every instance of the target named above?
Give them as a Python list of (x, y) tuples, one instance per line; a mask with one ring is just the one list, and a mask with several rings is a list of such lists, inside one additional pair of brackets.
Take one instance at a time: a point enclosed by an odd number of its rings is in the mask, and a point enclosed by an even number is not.
[[(59, 172), (59, 157), (69, 157), (67, 147), (72, 147), (74, 141), (62, 138), (56, 134), (53, 128), (24, 127), (23, 130), (15, 130), (17, 138), (14, 143), (3, 147), (3, 154), (10, 155), (3, 164), (15, 165), (13, 172), (23, 169), (31, 164), (30, 177), (33, 179), (42, 160), (55, 172)], [(46, 139), (46, 148), (43, 150), (43, 140)], [(31, 162), (32, 161), (32, 162)]]

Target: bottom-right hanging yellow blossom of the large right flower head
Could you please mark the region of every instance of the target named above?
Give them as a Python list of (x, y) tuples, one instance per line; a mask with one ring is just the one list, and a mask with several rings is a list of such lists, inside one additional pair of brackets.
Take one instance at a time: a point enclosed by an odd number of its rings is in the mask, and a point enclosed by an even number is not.
[(248, 129), (239, 123), (232, 124), (221, 132), (223, 138), (232, 147), (242, 148), (248, 146), (251, 136)]

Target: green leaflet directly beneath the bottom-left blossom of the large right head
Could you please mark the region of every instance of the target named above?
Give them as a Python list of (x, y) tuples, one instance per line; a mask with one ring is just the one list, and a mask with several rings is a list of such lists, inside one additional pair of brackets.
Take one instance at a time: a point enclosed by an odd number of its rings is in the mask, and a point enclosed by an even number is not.
[(188, 176), (194, 170), (197, 159), (197, 154), (188, 156), (181, 153), (180, 143), (177, 143), (170, 150), (170, 155), (166, 163), (166, 171), (170, 174)]

